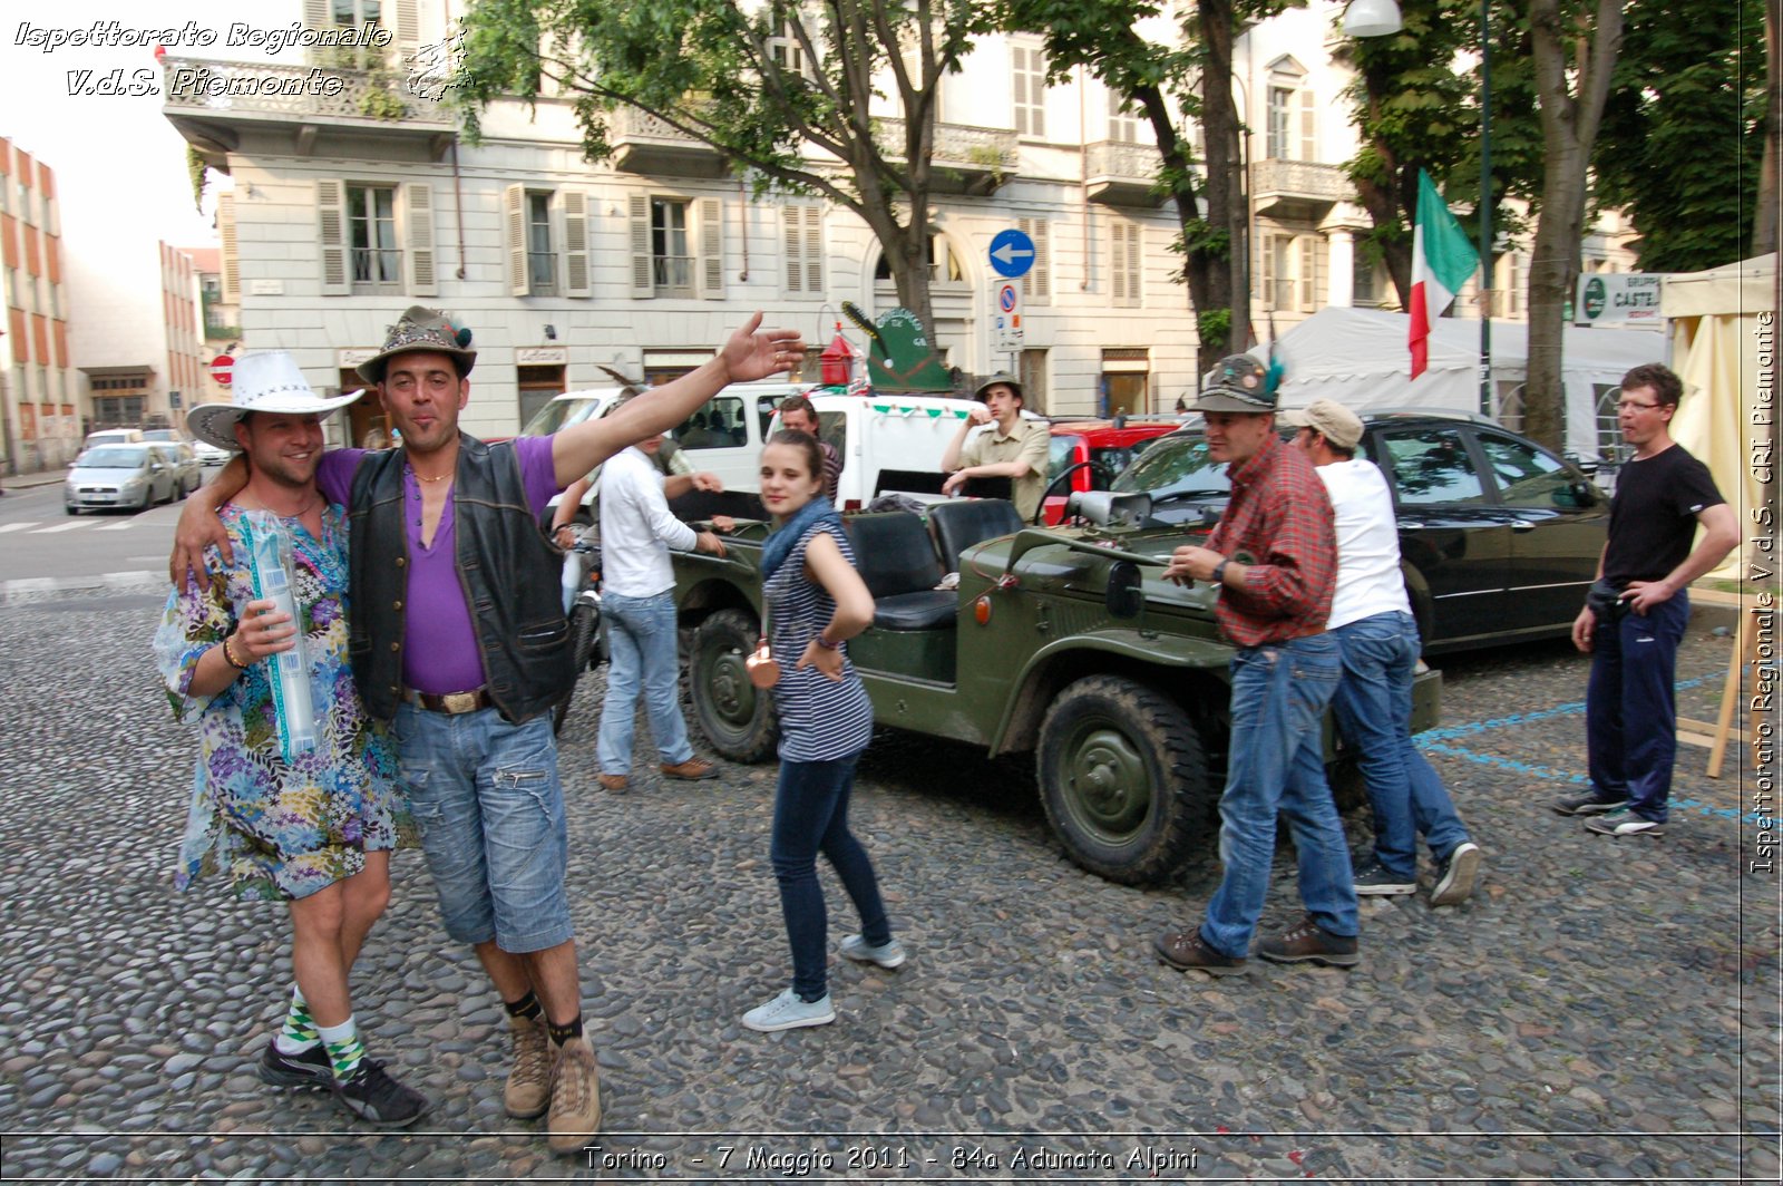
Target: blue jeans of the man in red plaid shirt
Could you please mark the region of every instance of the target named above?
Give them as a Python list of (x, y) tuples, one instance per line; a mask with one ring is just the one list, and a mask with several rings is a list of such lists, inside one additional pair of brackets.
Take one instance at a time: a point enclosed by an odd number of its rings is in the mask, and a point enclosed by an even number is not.
[(1300, 899), (1321, 929), (1359, 931), (1350, 849), (1325, 781), (1321, 722), (1343, 674), (1330, 635), (1245, 647), (1232, 656), (1232, 747), (1220, 797), (1225, 876), (1202, 938), (1227, 956), (1250, 954), (1269, 892), (1275, 815), (1287, 817), (1300, 856)]

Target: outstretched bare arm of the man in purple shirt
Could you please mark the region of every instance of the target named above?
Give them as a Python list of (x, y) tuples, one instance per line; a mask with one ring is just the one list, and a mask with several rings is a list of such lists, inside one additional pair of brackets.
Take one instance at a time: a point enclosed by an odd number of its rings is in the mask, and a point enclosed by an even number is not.
[(569, 485), (613, 453), (685, 421), (726, 383), (747, 383), (790, 369), (804, 358), (797, 330), (763, 330), (758, 312), (724, 342), (711, 362), (672, 383), (628, 399), (612, 416), (572, 424), (551, 437), (556, 480)]

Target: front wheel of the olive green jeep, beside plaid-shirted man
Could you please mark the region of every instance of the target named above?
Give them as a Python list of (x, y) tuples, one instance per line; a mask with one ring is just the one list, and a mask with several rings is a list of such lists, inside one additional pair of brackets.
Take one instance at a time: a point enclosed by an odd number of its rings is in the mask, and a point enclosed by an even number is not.
[(1073, 861), (1148, 885), (1202, 840), (1212, 788), (1200, 737), (1175, 701), (1091, 676), (1064, 688), (1041, 726), (1039, 799)]

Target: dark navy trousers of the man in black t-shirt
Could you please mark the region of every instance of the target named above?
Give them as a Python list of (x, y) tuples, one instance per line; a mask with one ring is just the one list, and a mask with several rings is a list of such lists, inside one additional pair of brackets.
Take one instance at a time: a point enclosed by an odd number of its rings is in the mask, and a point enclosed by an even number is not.
[(1585, 745), (1599, 799), (1628, 799), (1640, 819), (1664, 824), (1678, 756), (1678, 644), (1690, 597), (1678, 592), (1646, 617), (1598, 619), (1585, 688)]

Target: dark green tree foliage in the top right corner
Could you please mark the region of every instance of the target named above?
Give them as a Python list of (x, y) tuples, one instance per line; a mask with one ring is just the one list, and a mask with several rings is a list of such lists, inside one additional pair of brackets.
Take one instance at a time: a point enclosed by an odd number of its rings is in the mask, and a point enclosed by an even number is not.
[(1637, 4), (1598, 136), (1596, 198), (1640, 232), (1642, 271), (1740, 259), (1763, 157), (1763, 0)]

